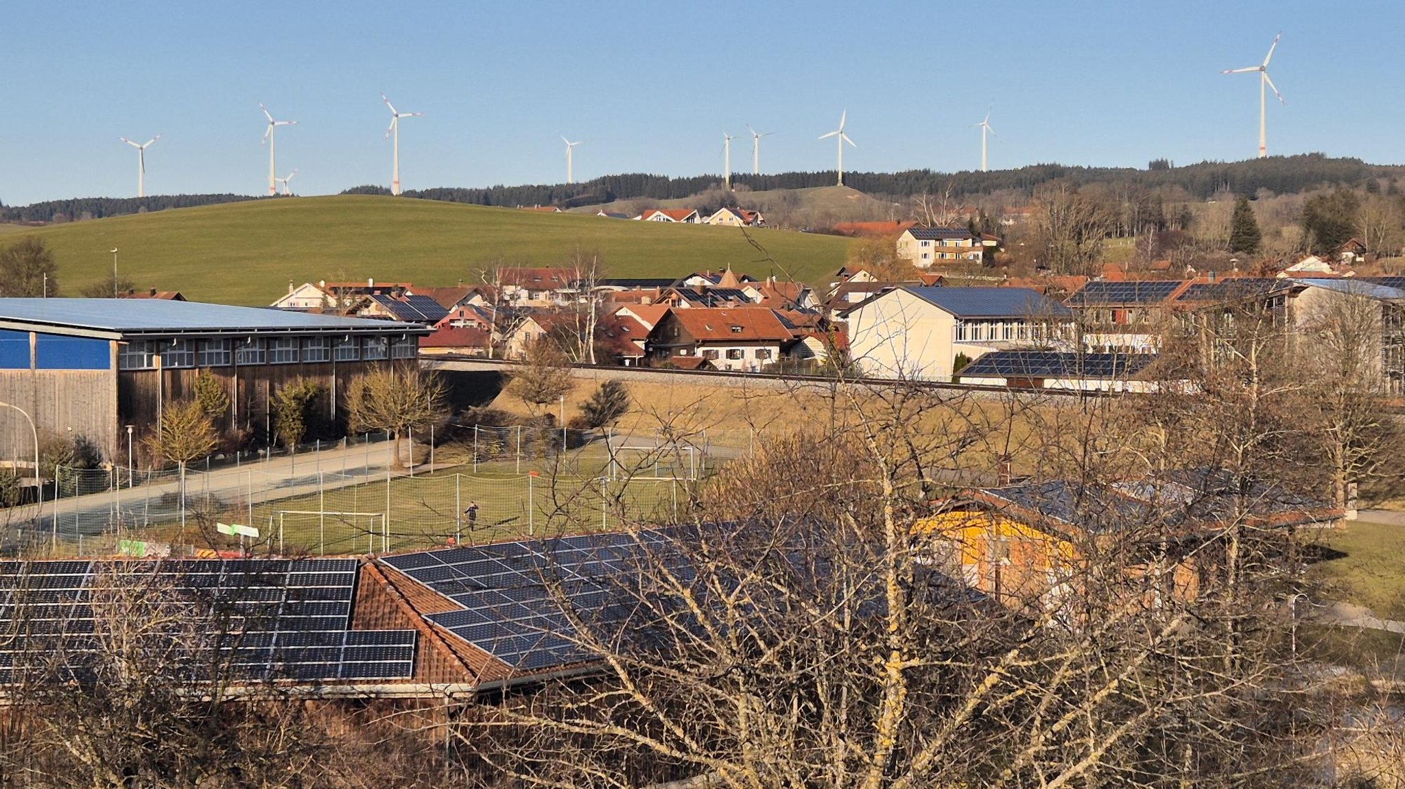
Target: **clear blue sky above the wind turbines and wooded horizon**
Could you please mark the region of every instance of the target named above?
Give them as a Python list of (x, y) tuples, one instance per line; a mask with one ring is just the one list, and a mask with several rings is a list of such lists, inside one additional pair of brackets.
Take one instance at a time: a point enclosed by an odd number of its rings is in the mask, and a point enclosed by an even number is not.
[[(266, 102), (299, 194), (719, 173), (746, 124), (763, 171), (968, 170), (1236, 160), (1257, 147), (1253, 74), (1274, 32), (1269, 152), (1401, 163), (1398, 3), (22, 3), (0, 17), (0, 201), (261, 194)], [(1270, 95), (1272, 100), (1272, 95)], [(750, 139), (732, 143), (750, 167)]]

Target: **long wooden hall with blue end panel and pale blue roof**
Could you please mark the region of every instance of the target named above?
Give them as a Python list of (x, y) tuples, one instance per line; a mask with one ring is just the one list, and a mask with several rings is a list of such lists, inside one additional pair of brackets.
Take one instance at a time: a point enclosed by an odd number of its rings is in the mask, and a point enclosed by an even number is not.
[[(163, 404), (190, 397), (201, 371), (225, 385), (228, 430), (266, 437), (278, 386), (320, 383), (322, 409), (336, 424), (346, 380), (414, 359), (427, 333), (412, 323), (198, 302), (0, 299), (0, 400), (41, 432), (86, 438), (117, 460), (126, 456), (126, 425), (139, 452)], [(6, 459), (30, 446), (30, 425), (0, 409)]]

